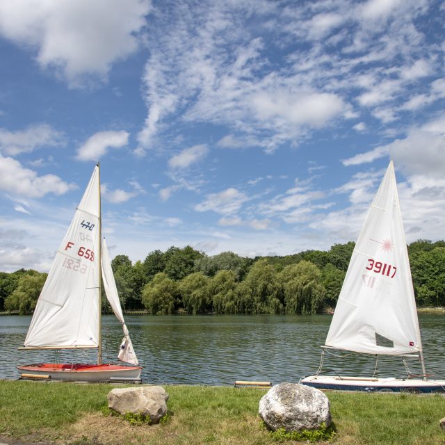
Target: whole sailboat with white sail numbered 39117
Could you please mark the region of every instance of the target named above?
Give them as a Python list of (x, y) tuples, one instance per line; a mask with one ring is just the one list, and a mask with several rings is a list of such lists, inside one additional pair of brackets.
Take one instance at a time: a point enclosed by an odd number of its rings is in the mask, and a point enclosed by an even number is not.
[[(316, 375), (300, 383), (319, 389), (445, 392), (445, 380), (428, 380), (394, 165), (369, 209), (350, 259)], [(420, 359), (422, 375), (377, 378), (323, 375), (329, 350)], [(376, 363), (377, 364), (377, 363)], [(405, 369), (409, 369), (405, 366)]]

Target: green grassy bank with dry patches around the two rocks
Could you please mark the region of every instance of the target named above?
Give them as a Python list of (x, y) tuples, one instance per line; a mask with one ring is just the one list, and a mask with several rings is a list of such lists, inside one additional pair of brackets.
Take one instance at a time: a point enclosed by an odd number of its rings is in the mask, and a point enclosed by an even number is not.
[[(58, 444), (275, 444), (261, 426), (266, 390), (165, 386), (172, 413), (156, 426), (106, 415), (113, 385), (0, 381), (0, 442)], [(328, 392), (337, 444), (445, 444), (444, 396)], [(287, 442), (294, 443), (294, 442)]]

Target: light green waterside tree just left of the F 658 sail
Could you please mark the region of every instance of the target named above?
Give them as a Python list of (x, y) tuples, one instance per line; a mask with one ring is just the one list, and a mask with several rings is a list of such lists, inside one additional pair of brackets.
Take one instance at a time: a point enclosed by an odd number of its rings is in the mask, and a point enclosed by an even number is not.
[(33, 312), (46, 279), (46, 273), (38, 273), (35, 270), (29, 270), (19, 277), (15, 290), (5, 300), (6, 310), (18, 311), (19, 314)]

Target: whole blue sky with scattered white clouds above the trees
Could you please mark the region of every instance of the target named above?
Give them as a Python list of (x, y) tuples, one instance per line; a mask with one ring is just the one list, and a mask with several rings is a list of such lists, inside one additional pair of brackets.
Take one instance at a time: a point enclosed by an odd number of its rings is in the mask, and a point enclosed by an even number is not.
[(97, 161), (111, 256), (355, 241), (394, 161), (444, 239), (445, 3), (0, 3), (0, 270), (47, 271)]

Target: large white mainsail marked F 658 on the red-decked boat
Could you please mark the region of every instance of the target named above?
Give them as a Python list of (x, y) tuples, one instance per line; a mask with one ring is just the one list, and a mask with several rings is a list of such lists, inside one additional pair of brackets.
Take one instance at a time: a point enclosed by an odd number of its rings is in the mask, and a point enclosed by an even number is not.
[(96, 167), (38, 299), (25, 347), (99, 343), (99, 168)]

